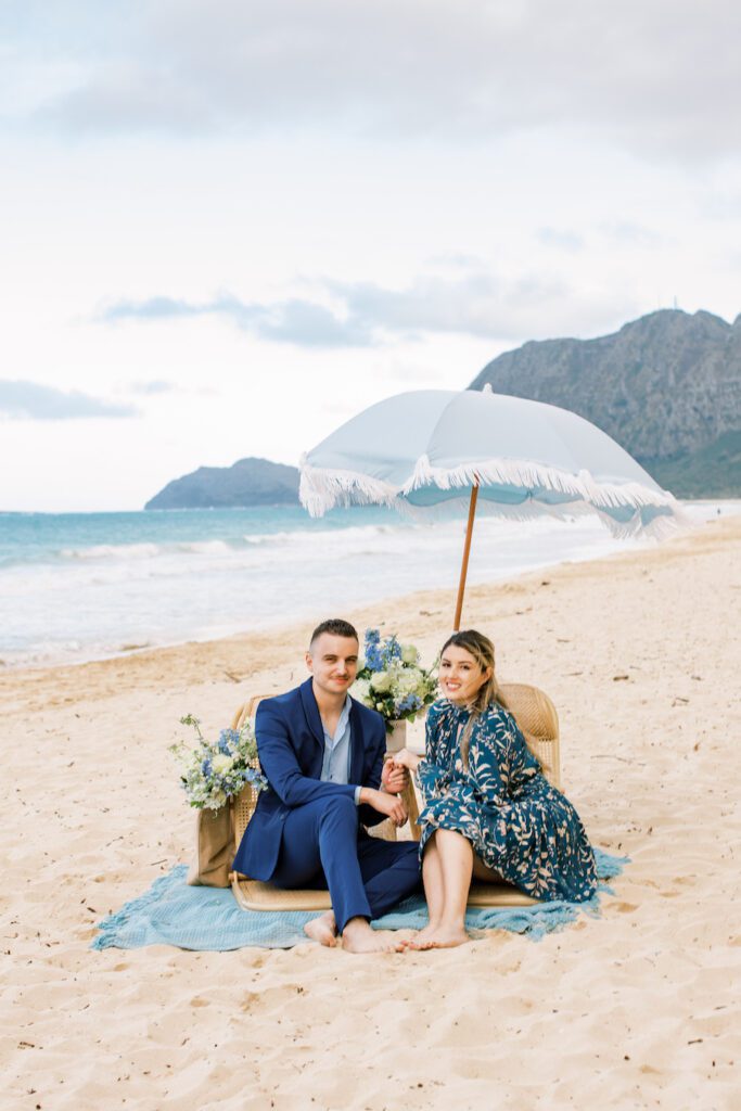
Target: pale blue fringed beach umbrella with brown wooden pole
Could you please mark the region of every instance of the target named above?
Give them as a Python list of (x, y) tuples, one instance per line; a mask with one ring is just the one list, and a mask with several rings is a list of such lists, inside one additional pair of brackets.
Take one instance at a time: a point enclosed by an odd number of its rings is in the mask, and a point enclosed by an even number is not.
[(379, 401), (301, 460), (312, 517), (378, 503), (418, 516), (468, 507), (454, 629), (477, 502), (498, 516), (595, 512), (615, 536), (660, 536), (677, 501), (594, 424), (557, 406), (479, 390), (415, 390)]

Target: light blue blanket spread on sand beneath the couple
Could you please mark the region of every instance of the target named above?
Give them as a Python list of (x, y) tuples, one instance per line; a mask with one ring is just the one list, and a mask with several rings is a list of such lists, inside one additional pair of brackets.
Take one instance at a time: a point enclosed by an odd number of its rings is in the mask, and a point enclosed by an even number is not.
[[(594, 850), (600, 880), (619, 875), (628, 857)], [(99, 923), (92, 949), (139, 949), (141, 945), (178, 945), (180, 949), (228, 950), (244, 945), (290, 949), (307, 941), (303, 927), (316, 911), (243, 911), (231, 889), (189, 888), (186, 864), (177, 864), (154, 880), (149, 891), (126, 903)], [(607, 883), (600, 891), (610, 892)], [(510, 930), (540, 941), (544, 933), (573, 922), (581, 911), (597, 915), (599, 894), (589, 902), (535, 903), (531, 907), (491, 907), (470, 910), (469, 930)], [(391, 914), (373, 923), (379, 929), (419, 930), (427, 924), (427, 907), (420, 895), (400, 903)]]

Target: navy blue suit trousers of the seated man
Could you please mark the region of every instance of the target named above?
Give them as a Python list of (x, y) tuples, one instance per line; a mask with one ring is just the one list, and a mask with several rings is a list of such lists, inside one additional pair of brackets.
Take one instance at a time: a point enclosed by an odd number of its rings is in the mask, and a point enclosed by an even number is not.
[(270, 882), (329, 888), (341, 933), (351, 918), (380, 918), (419, 888), (419, 847), (369, 837), (344, 794), (317, 799), (293, 807), (286, 819)]

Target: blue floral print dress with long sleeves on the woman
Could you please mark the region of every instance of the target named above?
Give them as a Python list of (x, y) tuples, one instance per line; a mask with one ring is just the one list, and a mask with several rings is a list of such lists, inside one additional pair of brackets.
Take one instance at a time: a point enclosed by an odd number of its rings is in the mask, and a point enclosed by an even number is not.
[(424, 801), (420, 855), (437, 829), (455, 830), (533, 899), (590, 899), (594, 853), (579, 814), (548, 782), (514, 718), (492, 702), (473, 723), (464, 768), (468, 720), (469, 711), (447, 699), (428, 711), (427, 754), (415, 772)]

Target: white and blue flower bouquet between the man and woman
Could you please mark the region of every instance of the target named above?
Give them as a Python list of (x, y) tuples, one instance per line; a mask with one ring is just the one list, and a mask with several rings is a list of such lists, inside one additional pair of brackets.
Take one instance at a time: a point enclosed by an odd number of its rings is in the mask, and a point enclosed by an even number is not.
[(434, 669), (421, 667), (413, 644), (402, 644), (395, 635), (381, 640), (378, 629), (366, 630), (363, 659), (350, 693), (378, 710), (387, 729), (394, 721), (413, 721), (434, 702), (437, 690)]

